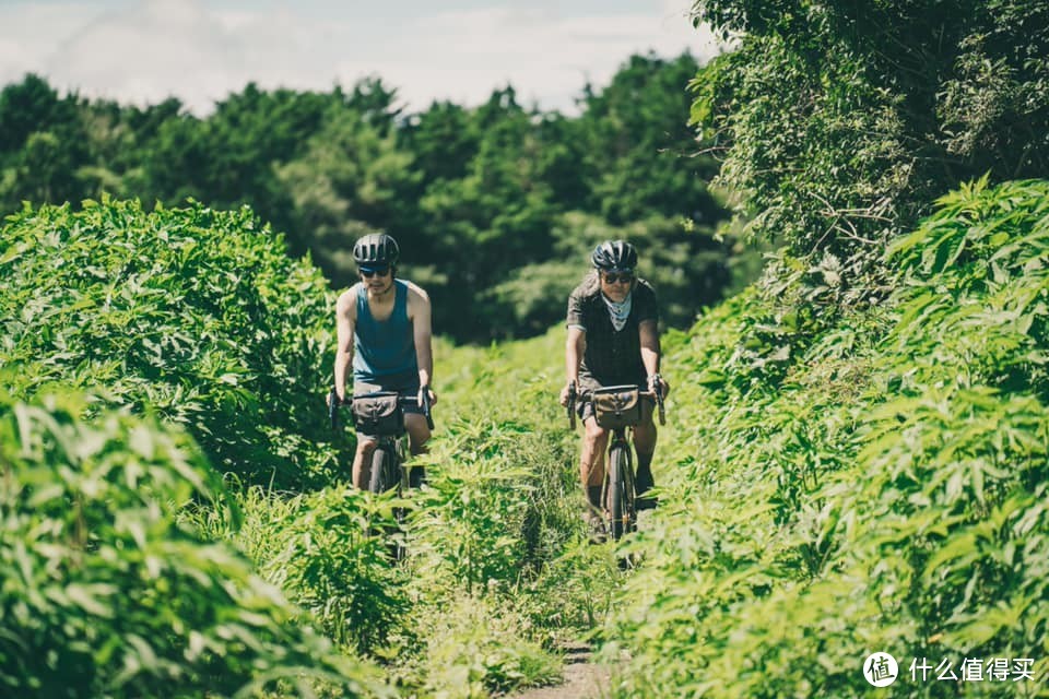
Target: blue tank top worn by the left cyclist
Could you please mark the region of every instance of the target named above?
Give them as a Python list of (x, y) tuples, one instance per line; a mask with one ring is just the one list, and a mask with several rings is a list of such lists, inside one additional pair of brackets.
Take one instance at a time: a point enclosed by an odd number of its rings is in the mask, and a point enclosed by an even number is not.
[(353, 333), (353, 380), (401, 388), (419, 383), (415, 335), (408, 318), (408, 284), (393, 280), (393, 312), (379, 321), (368, 308), (368, 291), (357, 293)]

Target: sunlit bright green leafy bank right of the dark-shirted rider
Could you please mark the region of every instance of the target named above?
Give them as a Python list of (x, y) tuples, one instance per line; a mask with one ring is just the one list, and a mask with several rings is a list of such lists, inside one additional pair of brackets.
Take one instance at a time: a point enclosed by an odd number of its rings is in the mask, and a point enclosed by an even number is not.
[(886, 303), (782, 378), (750, 329), (789, 303), (747, 293), (676, 337), (677, 465), (614, 631), (622, 696), (868, 696), (875, 651), (907, 696), (956, 696), (934, 676), (964, 659), (966, 696), (1046, 696), (1047, 254), (1049, 182), (979, 181), (886, 252)]

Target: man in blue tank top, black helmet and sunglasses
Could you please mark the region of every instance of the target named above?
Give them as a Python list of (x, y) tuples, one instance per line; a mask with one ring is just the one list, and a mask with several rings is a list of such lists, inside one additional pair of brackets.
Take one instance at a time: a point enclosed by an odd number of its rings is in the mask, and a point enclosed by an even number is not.
[[(433, 378), (429, 296), (420, 286), (397, 279), (400, 249), (386, 234), (369, 234), (353, 246), (361, 281), (343, 292), (335, 304), (335, 394), (345, 401), (346, 369), (353, 365), (353, 394), (397, 391), (417, 396), (424, 391), (431, 404), (437, 395), (429, 388)], [(429, 427), (422, 407), (404, 406), (404, 427), (412, 454), (424, 453)], [(357, 435), (353, 460), (353, 483), (368, 487), (374, 435)], [(423, 478), (412, 469), (411, 485)]]

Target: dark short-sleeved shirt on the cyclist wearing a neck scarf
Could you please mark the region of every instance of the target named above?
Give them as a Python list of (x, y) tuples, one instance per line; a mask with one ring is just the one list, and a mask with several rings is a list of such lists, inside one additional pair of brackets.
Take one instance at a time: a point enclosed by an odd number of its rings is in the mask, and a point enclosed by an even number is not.
[(630, 292), (630, 315), (623, 330), (612, 324), (612, 316), (601, 297), (601, 283), (591, 272), (568, 297), (569, 327), (587, 333), (587, 350), (579, 367), (579, 388), (593, 390), (603, 386), (638, 383), (644, 386), (647, 372), (641, 364), (641, 321), (659, 321), (659, 305), (651, 284), (643, 279)]

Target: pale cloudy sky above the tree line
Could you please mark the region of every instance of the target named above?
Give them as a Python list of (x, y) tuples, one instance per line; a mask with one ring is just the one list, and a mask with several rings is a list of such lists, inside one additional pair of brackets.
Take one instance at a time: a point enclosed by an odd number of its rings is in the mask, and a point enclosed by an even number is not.
[(0, 0), (0, 84), (27, 72), (122, 103), (207, 114), (247, 82), (330, 90), (374, 75), (410, 110), (512, 84), (571, 111), (633, 52), (704, 59), (691, 0)]

